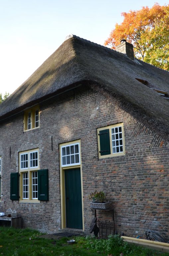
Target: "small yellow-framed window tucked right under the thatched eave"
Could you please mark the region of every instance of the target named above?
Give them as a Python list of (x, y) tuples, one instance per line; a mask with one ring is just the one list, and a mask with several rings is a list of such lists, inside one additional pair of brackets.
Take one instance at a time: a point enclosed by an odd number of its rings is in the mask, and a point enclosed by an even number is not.
[(25, 110), (24, 131), (40, 127), (39, 106)]

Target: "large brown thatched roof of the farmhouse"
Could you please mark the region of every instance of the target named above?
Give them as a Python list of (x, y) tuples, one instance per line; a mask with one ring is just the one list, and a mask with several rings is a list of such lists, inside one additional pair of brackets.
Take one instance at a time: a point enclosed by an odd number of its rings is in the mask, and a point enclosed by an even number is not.
[(105, 86), (147, 115), (169, 126), (169, 72), (126, 54), (70, 35), (67, 40), (0, 105), (0, 120), (84, 80)]

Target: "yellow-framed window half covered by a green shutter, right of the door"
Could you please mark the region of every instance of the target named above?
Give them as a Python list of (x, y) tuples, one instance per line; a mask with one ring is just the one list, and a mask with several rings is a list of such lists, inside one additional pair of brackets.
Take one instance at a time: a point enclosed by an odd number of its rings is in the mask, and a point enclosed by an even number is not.
[(97, 129), (99, 158), (125, 155), (123, 123)]

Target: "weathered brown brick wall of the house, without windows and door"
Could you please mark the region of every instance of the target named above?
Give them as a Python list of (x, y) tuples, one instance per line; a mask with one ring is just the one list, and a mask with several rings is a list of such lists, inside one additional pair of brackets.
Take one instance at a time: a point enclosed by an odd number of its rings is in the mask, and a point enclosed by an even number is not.
[[(97, 128), (124, 123), (126, 155), (98, 159)], [(53, 150), (51, 149), (51, 136)], [(1, 210), (22, 215), (23, 227), (54, 232), (61, 228), (59, 144), (81, 140), (84, 227), (92, 219), (88, 194), (103, 190), (115, 210), (117, 232), (142, 234), (159, 222), (168, 233), (169, 150), (167, 141), (87, 88), (69, 91), (40, 104), (40, 128), (23, 132), (23, 113), (0, 123), (2, 156)], [(11, 147), (11, 158), (10, 158)], [(10, 200), (10, 173), (19, 170), (20, 151), (39, 148), (40, 169), (49, 170), (49, 201)], [(111, 220), (110, 213), (98, 212)]]

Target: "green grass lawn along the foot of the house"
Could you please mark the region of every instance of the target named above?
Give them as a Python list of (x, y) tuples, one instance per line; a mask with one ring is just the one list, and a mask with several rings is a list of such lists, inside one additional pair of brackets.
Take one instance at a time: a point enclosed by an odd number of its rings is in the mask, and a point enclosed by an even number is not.
[(0, 227), (0, 255), (5, 256), (169, 256), (147, 248), (128, 245), (119, 236), (109, 239), (75, 237), (76, 243), (68, 245), (70, 238), (58, 240), (39, 237), (40, 232), (31, 229)]

